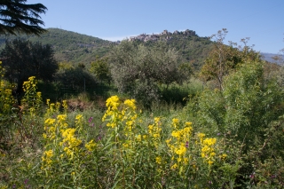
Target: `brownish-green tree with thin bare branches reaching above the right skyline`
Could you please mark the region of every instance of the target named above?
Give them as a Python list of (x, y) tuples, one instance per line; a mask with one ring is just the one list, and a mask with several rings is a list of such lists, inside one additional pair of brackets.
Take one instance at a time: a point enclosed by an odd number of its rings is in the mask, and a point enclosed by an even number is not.
[(228, 31), (223, 28), (211, 38), (215, 40), (214, 49), (209, 53), (209, 58), (201, 67), (201, 79), (203, 81), (216, 80), (217, 88), (224, 90), (224, 77), (235, 70), (246, 60), (261, 61), (258, 53), (247, 45), (248, 39), (241, 39), (244, 46), (238, 46), (237, 43), (229, 42), (225, 45), (225, 36)]

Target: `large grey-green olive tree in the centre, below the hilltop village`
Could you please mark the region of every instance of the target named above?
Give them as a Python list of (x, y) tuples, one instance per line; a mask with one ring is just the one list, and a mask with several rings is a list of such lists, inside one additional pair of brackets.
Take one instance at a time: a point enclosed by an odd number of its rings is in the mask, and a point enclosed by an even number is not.
[(182, 83), (188, 69), (180, 69), (181, 57), (167, 43), (152, 46), (122, 41), (109, 56), (114, 83), (121, 92), (150, 106), (159, 97), (159, 84)]

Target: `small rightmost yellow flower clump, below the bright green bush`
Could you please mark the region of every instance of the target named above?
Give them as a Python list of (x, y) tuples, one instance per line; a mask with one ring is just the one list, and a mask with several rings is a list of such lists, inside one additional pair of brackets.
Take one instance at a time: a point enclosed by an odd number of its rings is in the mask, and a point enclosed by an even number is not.
[(198, 137), (201, 140), (201, 157), (208, 162), (209, 166), (215, 161), (215, 149), (214, 146), (217, 142), (216, 138), (205, 138), (205, 134), (200, 133)]

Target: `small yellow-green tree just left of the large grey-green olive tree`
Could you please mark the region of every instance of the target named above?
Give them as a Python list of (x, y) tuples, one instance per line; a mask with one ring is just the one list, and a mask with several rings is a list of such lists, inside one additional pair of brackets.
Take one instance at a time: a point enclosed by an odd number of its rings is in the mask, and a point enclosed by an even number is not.
[(107, 61), (107, 58), (99, 59), (99, 56), (97, 56), (96, 61), (91, 62), (90, 71), (91, 73), (95, 74), (101, 82), (107, 82), (110, 84), (112, 77)]

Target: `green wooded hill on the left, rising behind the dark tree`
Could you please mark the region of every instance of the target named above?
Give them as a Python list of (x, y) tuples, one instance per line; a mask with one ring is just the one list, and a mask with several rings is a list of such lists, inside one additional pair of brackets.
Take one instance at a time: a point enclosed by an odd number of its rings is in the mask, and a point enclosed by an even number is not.
[(0, 35), (0, 49), (4, 48), (5, 40), (15, 38), (27, 39), (31, 42), (49, 43), (55, 52), (55, 58), (58, 61), (72, 61), (88, 63), (93, 61), (96, 56), (103, 57), (113, 42), (99, 39), (89, 35), (82, 35), (59, 28), (48, 28), (47, 33), (40, 37), (36, 35), (9, 35), (5, 37)]

